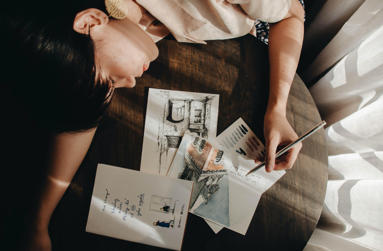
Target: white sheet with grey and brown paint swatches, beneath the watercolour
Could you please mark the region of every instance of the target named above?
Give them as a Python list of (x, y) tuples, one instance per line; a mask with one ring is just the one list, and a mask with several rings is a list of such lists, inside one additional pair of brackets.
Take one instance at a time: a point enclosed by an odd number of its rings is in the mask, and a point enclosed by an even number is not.
[[(238, 154), (246, 155), (252, 159), (265, 154), (265, 146), (242, 118), (237, 119), (236, 122), (219, 134), (216, 142), (227, 149), (235, 150)], [(285, 173), (285, 171), (273, 171), (270, 173), (262, 193), (269, 189)], [(210, 220), (205, 219), (205, 221), (214, 233), (218, 233), (223, 228), (221, 225)]]

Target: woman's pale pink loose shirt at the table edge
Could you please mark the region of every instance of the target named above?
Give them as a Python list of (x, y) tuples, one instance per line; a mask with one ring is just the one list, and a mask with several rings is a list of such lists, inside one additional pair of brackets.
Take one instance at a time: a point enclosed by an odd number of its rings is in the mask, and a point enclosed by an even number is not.
[(205, 40), (256, 34), (255, 19), (282, 20), (291, 0), (136, 0), (146, 8), (141, 27), (155, 42), (170, 32), (179, 42), (206, 44)]

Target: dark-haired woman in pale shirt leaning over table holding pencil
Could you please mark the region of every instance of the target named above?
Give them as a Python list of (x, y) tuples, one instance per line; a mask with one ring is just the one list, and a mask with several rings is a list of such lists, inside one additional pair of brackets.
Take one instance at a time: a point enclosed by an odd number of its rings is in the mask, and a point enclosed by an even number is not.
[(32, 217), (30, 249), (51, 249), (49, 220), (113, 90), (135, 85), (158, 55), (154, 41), (169, 31), (180, 42), (205, 43), (257, 34), (255, 20), (270, 22), (266, 171), (291, 168), (301, 145), (277, 160), (275, 152), (297, 138), (285, 111), (303, 40), (304, 10), (298, 0), (125, 0), (123, 20), (109, 17), (103, 1), (81, 2), (65, 1), (56, 10), (49, 2), (36, 7), (29, 1), (4, 8), (2, 17), (3, 58), (9, 65), (2, 81), (17, 88), (32, 117), (55, 133)]

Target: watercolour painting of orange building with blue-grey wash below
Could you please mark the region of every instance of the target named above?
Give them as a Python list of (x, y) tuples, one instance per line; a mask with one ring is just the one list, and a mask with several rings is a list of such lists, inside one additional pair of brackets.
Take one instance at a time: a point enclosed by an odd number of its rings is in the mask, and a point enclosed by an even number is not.
[(183, 149), (183, 168), (178, 178), (194, 182), (189, 212), (229, 226), (228, 170), (224, 152), (196, 135), (191, 136)]

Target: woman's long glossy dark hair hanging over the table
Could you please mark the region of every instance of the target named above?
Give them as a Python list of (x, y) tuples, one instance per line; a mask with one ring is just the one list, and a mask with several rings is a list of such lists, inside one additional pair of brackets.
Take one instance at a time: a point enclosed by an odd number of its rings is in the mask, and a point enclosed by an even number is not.
[(75, 32), (73, 22), (79, 11), (105, 7), (68, 1), (57, 10), (51, 2), (30, 2), (4, 8), (0, 32), (6, 67), (1, 81), (48, 130), (97, 127), (110, 103), (111, 81), (97, 75), (93, 40)]

